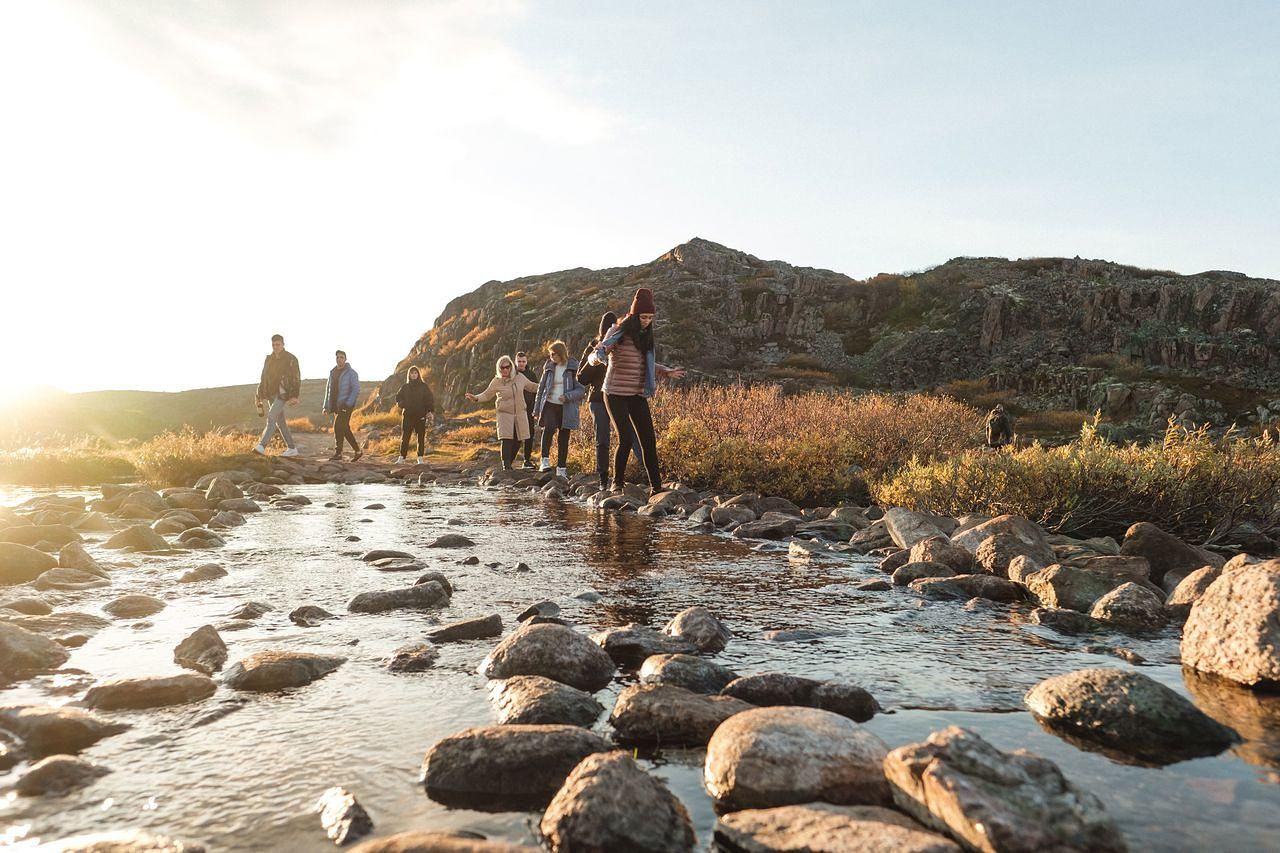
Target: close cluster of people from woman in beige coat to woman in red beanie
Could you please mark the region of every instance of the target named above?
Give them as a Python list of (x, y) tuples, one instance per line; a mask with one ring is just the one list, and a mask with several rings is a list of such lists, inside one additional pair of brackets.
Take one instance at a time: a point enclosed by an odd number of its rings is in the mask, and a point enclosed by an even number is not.
[[(581, 359), (568, 353), (563, 341), (548, 347), (549, 357), (541, 377), (529, 369), (527, 353), (502, 356), (494, 378), (480, 393), (467, 392), (472, 402), (494, 401), (498, 412), (498, 439), (502, 466), (515, 467), (521, 444), (525, 465), (532, 465), (535, 425), (543, 429), (540, 470), (552, 467), (556, 446), (556, 473), (567, 474), (571, 433), (581, 425), (580, 409), (585, 398), (595, 424), (595, 461), (602, 489), (621, 489), (626, 482), (627, 460), (637, 456), (649, 479), (650, 491), (662, 487), (658, 467), (658, 439), (649, 400), (659, 378), (680, 379), (682, 368), (668, 368), (655, 355), (653, 321), (657, 307), (653, 291), (641, 287), (621, 319), (612, 311), (600, 318), (599, 336), (582, 351)], [(612, 428), (612, 429), (611, 429)], [(612, 478), (609, 446), (617, 433)]]

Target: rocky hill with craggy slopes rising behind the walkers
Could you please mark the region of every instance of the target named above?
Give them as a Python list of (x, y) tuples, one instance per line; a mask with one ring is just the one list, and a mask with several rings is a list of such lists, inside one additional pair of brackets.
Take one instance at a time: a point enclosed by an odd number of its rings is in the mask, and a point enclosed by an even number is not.
[[(1280, 282), (1082, 259), (961, 257), (859, 280), (691, 240), (639, 266), (486, 282), (461, 296), (381, 384), (428, 371), (445, 409), (494, 360), (563, 338), (580, 352), (636, 287), (658, 302), (659, 357), (698, 379), (942, 388), (1024, 411), (1225, 423), (1280, 410)], [(1260, 406), (1262, 410), (1260, 411)]]

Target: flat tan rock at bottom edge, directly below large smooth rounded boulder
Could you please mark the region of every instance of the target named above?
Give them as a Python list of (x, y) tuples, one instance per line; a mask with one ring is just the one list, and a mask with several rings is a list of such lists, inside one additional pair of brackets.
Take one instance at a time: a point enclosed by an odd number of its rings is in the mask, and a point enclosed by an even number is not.
[(950, 839), (892, 809), (829, 803), (723, 815), (716, 841), (742, 853), (960, 853)]

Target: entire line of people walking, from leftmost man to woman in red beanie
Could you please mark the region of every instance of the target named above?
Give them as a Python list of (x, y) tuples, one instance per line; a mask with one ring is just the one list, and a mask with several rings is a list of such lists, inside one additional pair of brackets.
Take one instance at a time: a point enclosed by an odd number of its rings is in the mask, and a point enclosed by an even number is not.
[[(653, 321), (657, 307), (653, 291), (641, 287), (631, 300), (630, 310), (622, 316), (612, 311), (600, 318), (599, 334), (582, 351), (580, 359), (570, 356), (563, 341), (553, 342), (548, 350), (541, 375), (529, 368), (529, 355), (502, 356), (494, 378), (480, 393), (467, 392), (472, 402), (494, 401), (498, 412), (498, 439), (502, 446), (502, 466), (515, 467), (521, 444), (525, 466), (532, 467), (534, 433), (541, 426), (541, 457), (538, 467), (552, 467), (552, 446), (556, 447), (556, 473), (567, 475), (568, 444), (571, 434), (581, 426), (581, 403), (586, 400), (595, 425), (595, 466), (600, 488), (621, 489), (626, 482), (627, 460), (635, 456), (644, 466), (650, 491), (662, 487), (658, 467), (658, 439), (654, 433), (649, 400), (657, 391), (659, 378), (680, 379), (682, 368), (668, 368), (657, 360)], [(324, 411), (334, 416), (335, 448), (330, 459), (343, 457), (344, 444), (353, 451), (352, 460), (364, 451), (351, 429), (351, 415), (360, 402), (360, 375), (347, 362), (347, 353), (334, 353), (335, 365), (329, 371), (325, 386)], [(297, 357), (284, 348), (284, 337), (271, 337), (271, 353), (262, 364), (256, 403), (266, 418), (262, 437), (253, 448), (266, 453), (274, 433), (284, 439), (284, 456), (297, 456), (297, 444), (289, 432), (287, 409), (296, 406), (301, 393), (301, 373)], [(435, 398), (424, 380), (422, 371), (411, 366), (404, 384), (396, 394), (401, 409), (401, 452), (397, 462), (404, 462), (411, 442), (417, 439), (417, 461), (426, 455), (428, 420), (435, 411)], [(617, 433), (617, 448), (609, 450), (612, 433)]]

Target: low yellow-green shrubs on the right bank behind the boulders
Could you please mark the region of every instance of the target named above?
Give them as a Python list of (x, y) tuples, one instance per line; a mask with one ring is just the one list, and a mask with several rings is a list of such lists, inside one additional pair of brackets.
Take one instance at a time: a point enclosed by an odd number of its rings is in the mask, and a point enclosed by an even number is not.
[(1235, 525), (1280, 523), (1280, 448), (1266, 439), (1172, 423), (1158, 444), (1116, 447), (1097, 420), (1065, 447), (913, 460), (873, 488), (884, 506), (963, 515), (1021, 515), (1071, 535), (1123, 535), (1153, 521), (1190, 540), (1217, 542)]

